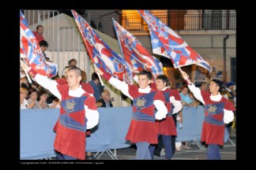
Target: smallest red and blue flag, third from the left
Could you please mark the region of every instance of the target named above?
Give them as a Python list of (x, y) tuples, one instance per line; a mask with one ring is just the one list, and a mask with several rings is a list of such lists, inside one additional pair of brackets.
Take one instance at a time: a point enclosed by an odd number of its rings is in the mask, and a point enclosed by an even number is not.
[(159, 62), (156, 57), (152, 57), (149, 51), (141, 45), (136, 37), (126, 31), (125, 28), (117, 23), (114, 19), (115, 33), (119, 39), (119, 47), (122, 51), (122, 56), (131, 68), (136, 72), (140, 72), (142, 69), (152, 72), (152, 75), (156, 78), (161, 74), (164, 74), (162, 68), (160, 68)]

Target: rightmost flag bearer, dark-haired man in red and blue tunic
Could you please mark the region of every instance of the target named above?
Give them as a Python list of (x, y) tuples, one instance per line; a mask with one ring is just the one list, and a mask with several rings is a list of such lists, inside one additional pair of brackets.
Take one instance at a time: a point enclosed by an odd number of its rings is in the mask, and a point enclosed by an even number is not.
[(202, 125), (201, 142), (208, 145), (207, 159), (220, 160), (219, 146), (224, 145), (224, 124), (234, 119), (235, 105), (220, 95), (221, 82), (212, 79), (209, 92), (201, 91), (190, 82), (186, 72), (181, 71), (183, 79), (200, 102), (205, 105), (205, 120)]

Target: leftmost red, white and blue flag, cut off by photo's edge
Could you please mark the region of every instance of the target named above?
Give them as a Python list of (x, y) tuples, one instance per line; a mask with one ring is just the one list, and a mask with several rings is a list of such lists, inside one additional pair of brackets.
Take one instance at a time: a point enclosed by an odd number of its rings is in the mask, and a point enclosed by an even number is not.
[(58, 72), (58, 65), (45, 60), (35, 35), (28, 28), (27, 20), (20, 12), (20, 58), (37, 73), (48, 78), (54, 77)]

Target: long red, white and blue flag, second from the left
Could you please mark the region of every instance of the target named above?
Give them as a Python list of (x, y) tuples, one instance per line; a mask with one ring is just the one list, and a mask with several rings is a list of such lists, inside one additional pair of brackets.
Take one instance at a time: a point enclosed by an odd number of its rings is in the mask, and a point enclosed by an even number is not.
[(92, 27), (78, 13), (72, 10), (81, 36), (85, 42), (86, 49), (92, 62), (100, 68), (102, 72), (109, 72), (126, 83), (133, 84), (132, 71), (126, 61), (119, 54), (107, 45)]

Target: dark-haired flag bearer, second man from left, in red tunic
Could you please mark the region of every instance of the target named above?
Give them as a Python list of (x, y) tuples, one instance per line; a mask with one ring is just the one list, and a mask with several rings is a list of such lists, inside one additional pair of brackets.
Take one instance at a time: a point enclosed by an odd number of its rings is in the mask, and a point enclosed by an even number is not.
[[(149, 87), (152, 82), (152, 73), (142, 70), (138, 77), (137, 85), (130, 85), (116, 79), (99, 68), (95, 71), (103, 76), (112, 86), (122, 91), (123, 94), (133, 99), (133, 117), (126, 140), (136, 143), (136, 159), (151, 160), (149, 145), (157, 144), (157, 128), (155, 120), (162, 120), (166, 117), (168, 109), (164, 105), (164, 94)], [(157, 109), (154, 113), (155, 108)]]

